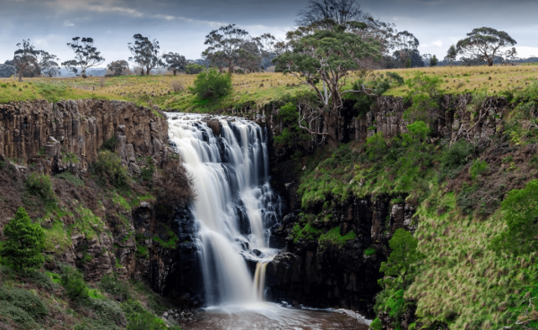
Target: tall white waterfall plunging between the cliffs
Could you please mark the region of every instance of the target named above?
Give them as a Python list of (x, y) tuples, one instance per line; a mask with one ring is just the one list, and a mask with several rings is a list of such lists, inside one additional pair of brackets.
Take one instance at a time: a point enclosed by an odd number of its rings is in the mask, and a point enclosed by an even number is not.
[[(269, 185), (266, 132), (233, 117), (169, 115), (169, 140), (194, 178), (191, 211), (204, 274), (206, 304), (263, 300), (265, 267), (275, 254), (270, 228), (280, 221), (280, 199)], [(220, 133), (220, 134), (219, 134)], [(247, 260), (257, 262), (256, 282)], [(261, 293), (260, 293), (261, 292)]]

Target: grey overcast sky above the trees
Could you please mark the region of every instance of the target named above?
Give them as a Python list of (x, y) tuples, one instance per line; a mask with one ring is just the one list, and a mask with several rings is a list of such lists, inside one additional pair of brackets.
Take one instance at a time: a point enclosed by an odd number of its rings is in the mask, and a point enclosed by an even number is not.
[[(538, 56), (537, 0), (364, 0), (362, 8), (421, 41), (421, 53), (444, 57), (465, 33), (482, 26), (505, 30), (520, 56)], [(308, 0), (0, 0), (0, 63), (16, 44), (30, 39), (39, 48), (71, 59), (66, 43), (91, 37), (107, 63), (127, 59), (135, 33), (158, 39), (161, 49), (199, 58), (204, 37), (236, 23), (253, 36), (270, 32), (283, 39)]]

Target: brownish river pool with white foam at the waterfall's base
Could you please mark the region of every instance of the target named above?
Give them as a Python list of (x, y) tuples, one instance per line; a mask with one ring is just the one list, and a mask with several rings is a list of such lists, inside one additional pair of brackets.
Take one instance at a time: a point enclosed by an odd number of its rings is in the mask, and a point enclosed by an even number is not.
[(284, 308), (273, 303), (205, 308), (186, 330), (329, 330), (368, 329), (368, 321), (336, 310)]

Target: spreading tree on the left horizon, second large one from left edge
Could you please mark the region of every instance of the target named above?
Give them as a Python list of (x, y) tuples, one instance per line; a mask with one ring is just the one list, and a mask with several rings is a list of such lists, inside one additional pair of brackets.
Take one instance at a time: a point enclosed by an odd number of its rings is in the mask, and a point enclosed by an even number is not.
[(86, 70), (89, 67), (105, 62), (105, 58), (100, 56), (100, 52), (93, 46), (91, 38), (74, 37), (73, 42), (68, 42), (67, 46), (73, 49), (74, 59), (63, 62), (62, 65), (66, 66), (67, 70), (73, 72), (77, 77), (82, 75), (82, 78), (87, 78)]

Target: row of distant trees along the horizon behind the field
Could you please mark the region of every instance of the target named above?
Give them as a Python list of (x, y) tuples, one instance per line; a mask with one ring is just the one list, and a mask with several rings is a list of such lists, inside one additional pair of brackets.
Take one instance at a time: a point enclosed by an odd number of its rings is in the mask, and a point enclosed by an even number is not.
[[(161, 50), (157, 39), (134, 34), (127, 43), (131, 56), (127, 60), (117, 60), (107, 65), (106, 74), (149, 75), (152, 71), (168, 71), (170, 74), (200, 74), (205, 68), (214, 67), (220, 73), (255, 73), (276, 65), (276, 71), (283, 71), (282, 65), (273, 60), (285, 52), (299, 46), (297, 43), (315, 30), (329, 30), (333, 33), (351, 33), (362, 42), (375, 40), (378, 56), (367, 56), (360, 60), (361, 68), (411, 68), (423, 66), (453, 65), (516, 65), (536, 62), (537, 56), (519, 58), (516, 40), (505, 31), (489, 27), (474, 29), (466, 38), (451, 45), (444, 58), (421, 54), (420, 41), (408, 30), (396, 30), (395, 24), (381, 22), (360, 9), (355, 0), (309, 0), (305, 10), (299, 12), (299, 30), (288, 35), (287, 40), (279, 40), (269, 33), (252, 36), (247, 30), (235, 24), (221, 26), (205, 36), (207, 48), (202, 57), (189, 60), (175, 52)], [(22, 77), (55, 77), (62, 72), (86, 78), (105, 63), (105, 58), (89, 37), (74, 37), (67, 47), (74, 52), (74, 58), (61, 62), (57, 56), (32, 45), (30, 39), (18, 43), (13, 59), (0, 65), (0, 77), (16, 74)], [(131, 68), (129, 62), (134, 64)], [(92, 69), (93, 68), (93, 69)], [(65, 70), (67, 70), (65, 72)], [(102, 71), (102, 69), (100, 69)]]

